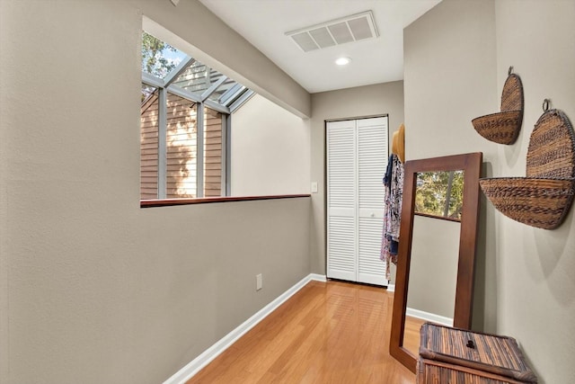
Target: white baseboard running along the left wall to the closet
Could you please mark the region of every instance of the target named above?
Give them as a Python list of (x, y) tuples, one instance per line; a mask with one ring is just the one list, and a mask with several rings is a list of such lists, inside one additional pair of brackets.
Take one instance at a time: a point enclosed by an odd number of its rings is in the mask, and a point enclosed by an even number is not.
[(216, 344), (210, 346), (206, 351), (199, 354), (197, 358), (186, 364), (180, 371), (177, 371), (173, 376), (164, 381), (164, 384), (182, 384), (190, 380), (202, 368), (212, 362), (220, 353), (226, 351), (237, 339), (245, 335), (250, 329), (261, 322), (265, 317), (268, 317), (271, 312), (276, 310), (281, 304), (292, 297), (298, 290), (304, 288), (305, 284), (309, 281), (327, 281), (325, 275), (310, 273), (305, 276), (301, 281), (296, 282), (296, 285), (286, 290), (274, 299), (264, 308), (261, 308), (255, 315), (245, 320), (240, 326), (237, 326), (232, 332), (222, 337)]

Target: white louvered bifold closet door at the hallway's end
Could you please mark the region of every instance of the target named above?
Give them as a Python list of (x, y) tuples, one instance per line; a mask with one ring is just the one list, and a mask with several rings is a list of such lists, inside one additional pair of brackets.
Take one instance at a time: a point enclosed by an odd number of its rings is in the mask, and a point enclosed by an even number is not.
[(327, 126), (327, 276), (387, 285), (380, 260), (387, 117)]

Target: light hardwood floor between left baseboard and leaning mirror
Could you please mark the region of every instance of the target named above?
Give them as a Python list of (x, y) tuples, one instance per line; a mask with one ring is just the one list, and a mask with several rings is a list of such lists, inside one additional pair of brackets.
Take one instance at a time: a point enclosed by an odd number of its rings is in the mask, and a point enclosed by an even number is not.
[(393, 293), (311, 281), (188, 381), (412, 384), (389, 354)]

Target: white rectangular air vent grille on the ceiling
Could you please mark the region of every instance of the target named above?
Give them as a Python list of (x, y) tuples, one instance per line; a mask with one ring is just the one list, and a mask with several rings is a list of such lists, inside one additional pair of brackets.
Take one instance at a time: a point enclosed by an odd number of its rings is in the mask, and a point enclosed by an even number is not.
[(286, 32), (304, 52), (329, 48), (352, 41), (374, 39), (378, 36), (371, 11), (352, 14), (341, 19), (323, 22), (297, 31)]

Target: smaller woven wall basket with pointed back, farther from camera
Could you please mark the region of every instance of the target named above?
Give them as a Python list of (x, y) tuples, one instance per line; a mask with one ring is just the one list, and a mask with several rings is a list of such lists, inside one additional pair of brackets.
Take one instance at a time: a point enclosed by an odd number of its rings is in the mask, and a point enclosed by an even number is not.
[(523, 85), (519, 76), (509, 67), (508, 77), (501, 94), (501, 112), (473, 119), (473, 128), (498, 144), (513, 144), (517, 140), (523, 122)]

